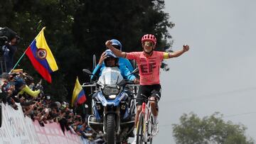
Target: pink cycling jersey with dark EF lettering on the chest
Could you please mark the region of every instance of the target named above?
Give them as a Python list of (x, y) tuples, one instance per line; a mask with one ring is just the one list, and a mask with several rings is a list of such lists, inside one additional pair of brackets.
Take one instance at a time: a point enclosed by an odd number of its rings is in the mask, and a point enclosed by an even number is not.
[(159, 70), (165, 52), (153, 51), (149, 57), (144, 52), (127, 52), (127, 59), (136, 60), (139, 66), (139, 84), (152, 85), (160, 84)]

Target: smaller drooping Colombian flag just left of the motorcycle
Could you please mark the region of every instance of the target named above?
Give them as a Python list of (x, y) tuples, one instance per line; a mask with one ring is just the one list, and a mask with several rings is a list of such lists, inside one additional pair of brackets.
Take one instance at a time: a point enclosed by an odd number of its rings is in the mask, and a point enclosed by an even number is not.
[(78, 104), (82, 104), (86, 101), (86, 96), (85, 92), (82, 89), (82, 86), (77, 79), (75, 80), (75, 88), (73, 90), (73, 96), (72, 96), (72, 101), (71, 101), (71, 106), (77, 106)]

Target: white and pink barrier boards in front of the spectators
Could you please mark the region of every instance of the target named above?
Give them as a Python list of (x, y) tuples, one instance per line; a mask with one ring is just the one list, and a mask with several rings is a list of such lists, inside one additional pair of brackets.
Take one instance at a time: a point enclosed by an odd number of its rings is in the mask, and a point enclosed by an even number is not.
[(21, 105), (14, 110), (9, 104), (1, 103), (2, 126), (0, 128), (0, 143), (89, 143), (79, 135), (65, 131), (58, 123), (48, 123), (44, 127), (38, 121), (24, 116)]

